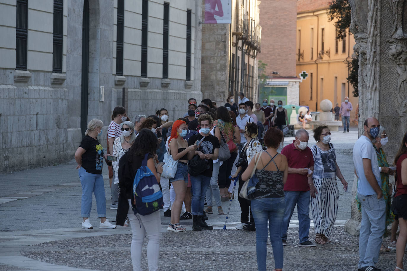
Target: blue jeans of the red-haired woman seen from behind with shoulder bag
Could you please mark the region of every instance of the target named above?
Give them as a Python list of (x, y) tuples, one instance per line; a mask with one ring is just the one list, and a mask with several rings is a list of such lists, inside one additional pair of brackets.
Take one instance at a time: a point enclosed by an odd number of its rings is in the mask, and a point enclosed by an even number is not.
[(280, 237), (282, 221), (284, 218), (284, 197), (271, 197), (253, 199), (250, 205), (256, 223), (256, 254), (259, 271), (267, 270), (267, 222), (269, 223), (270, 242), (273, 247), (275, 268), (283, 266), (283, 249)]

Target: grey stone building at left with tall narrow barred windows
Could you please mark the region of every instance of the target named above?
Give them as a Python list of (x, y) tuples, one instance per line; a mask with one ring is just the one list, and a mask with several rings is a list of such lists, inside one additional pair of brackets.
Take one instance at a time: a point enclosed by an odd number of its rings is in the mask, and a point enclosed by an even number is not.
[(105, 125), (105, 146), (117, 105), (129, 117), (162, 107), (183, 115), (189, 97), (202, 97), (201, 9), (190, 0), (0, 1), (0, 171), (72, 159), (92, 118)]

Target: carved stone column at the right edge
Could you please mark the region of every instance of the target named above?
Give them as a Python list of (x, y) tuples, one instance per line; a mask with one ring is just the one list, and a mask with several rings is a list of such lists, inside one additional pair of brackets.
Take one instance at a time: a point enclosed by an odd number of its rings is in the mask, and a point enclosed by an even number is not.
[[(389, 134), (384, 147), (392, 164), (407, 121), (407, 33), (403, 29), (405, 0), (349, 0), (352, 22), (350, 31), (359, 54), (359, 137), (367, 117), (379, 119)], [(400, 129), (401, 128), (401, 129)], [(352, 193), (356, 196), (357, 179)], [(345, 230), (358, 235), (361, 215), (356, 202), (351, 204), (351, 219)]]

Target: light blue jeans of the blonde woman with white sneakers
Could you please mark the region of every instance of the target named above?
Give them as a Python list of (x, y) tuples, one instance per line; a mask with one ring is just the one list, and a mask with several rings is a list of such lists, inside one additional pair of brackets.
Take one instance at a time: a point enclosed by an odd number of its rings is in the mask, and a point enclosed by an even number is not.
[(81, 217), (89, 217), (92, 209), (92, 191), (95, 194), (98, 217), (106, 217), (105, 183), (102, 174), (86, 172), (83, 167), (78, 169), (82, 185)]

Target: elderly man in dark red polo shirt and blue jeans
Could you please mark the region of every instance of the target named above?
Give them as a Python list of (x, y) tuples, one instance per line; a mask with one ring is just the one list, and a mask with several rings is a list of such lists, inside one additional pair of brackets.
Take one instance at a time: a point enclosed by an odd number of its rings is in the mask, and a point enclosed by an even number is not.
[(312, 171), (314, 159), (311, 149), (307, 147), (309, 134), (300, 129), (295, 133), (295, 140), (282, 149), (281, 154), (287, 157), (288, 177), (284, 184), (285, 213), (282, 221), (282, 244), (287, 245), (287, 230), (295, 205), (298, 211), (298, 237), (300, 247), (316, 247), (308, 240), (311, 219), (309, 218), (310, 196), (315, 197), (317, 189), (313, 185)]

